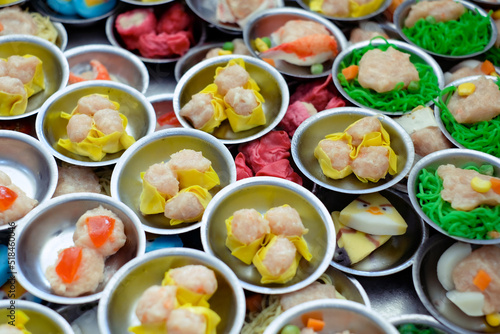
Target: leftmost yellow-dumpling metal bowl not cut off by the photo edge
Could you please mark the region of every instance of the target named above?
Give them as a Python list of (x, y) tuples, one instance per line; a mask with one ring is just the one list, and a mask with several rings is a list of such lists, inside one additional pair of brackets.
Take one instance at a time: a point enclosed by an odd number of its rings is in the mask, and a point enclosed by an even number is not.
[(101, 161), (92, 161), (90, 158), (73, 154), (57, 145), (59, 138), (67, 136), (67, 120), (59, 117), (60, 112), (71, 113), (78, 99), (94, 93), (108, 95), (110, 100), (120, 104), (120, 113), (128, 119), (126, 131), (136, 141), (154, 132), (156, 117), (153, 106), (134, 88), (119, 82), (102, 80), (76, 83), (51, 96), (44, 103), (36, 119), (37, 137), (56, 158), (74, 165), (98, 167), (112, 165), (122, 155), (123, 151), (120, 151), (107, 154)]

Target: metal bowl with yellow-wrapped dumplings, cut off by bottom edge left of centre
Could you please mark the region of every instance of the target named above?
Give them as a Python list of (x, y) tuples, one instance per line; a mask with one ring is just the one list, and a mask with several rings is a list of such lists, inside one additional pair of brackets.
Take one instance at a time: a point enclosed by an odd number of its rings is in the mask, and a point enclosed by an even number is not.
[(234, 273), (222, 261), (188, 248), (149, 252), (125, 265), (110, 280), (99, 302), (99, 329), (103, 334), (127, 333), (139, 325), (135, 315), (138, 299), (152, 285), (160, 285), (170, 268), (204, 265), (215, 272), (218, 288), (209, 299), (210, 308), (220, 317), (217, 333), (237, 334), (245, 320), (245, 295)]

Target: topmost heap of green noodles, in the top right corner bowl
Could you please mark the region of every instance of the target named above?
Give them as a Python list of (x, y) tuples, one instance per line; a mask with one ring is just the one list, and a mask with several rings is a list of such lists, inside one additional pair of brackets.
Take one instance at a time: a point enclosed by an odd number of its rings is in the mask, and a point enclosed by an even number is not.
[(462, 56), (484, 50), (491, 39), (491, 13), (466, 11), (458, 20), (430, 23), (418, 20), (403, 28), (410, 41), (421, 48), (442, 55)]

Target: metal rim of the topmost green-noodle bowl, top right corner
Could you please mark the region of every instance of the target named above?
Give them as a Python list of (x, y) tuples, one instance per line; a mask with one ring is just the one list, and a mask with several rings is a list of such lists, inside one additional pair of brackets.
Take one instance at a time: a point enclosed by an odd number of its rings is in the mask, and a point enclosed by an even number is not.
[[(428, 0), (428, 1), (432, 1), (432, 0)], [(461, 3), (462, 5), (464, 5), (464, 7), (466, 9), (468, 9), (472, 12), (477, 10), (481, 16), (488, 15), (485, 10), (483, 10), (482, 8), (480, 8), (479, 6), (477, 6), (471, 2), (468, 2), (465, 0), (454, 0), (454, 1)], [(403, 33), (404, 21), (406, 20), (406, 17), (408, 16), (408, 13), (410, 12), (411, 6), (414, 5), (416, 2), (417, 2), (417, 0), (404, 1), (401, 3), (401, 5), (399, 5), (396, 8), (396, 11), (394, 12), (394, 24), (396, 25), (396, 29), (398, 30), (401, 37), (403, 37), (403, 39), (407, 43), (410, 43), (411, 45), (413, 45), (421, 50), (424, 50), (426, 53), (428, 53), (432, 56), (438, 57), (440, 59), (448, 59), (448, 60), (466, 59), (466, 58), (472, 58), (472, 57), (478, 56), (478, 55), (486, 52), (488, 49), (490, 49), (495, 44), (498, 32), (497, 32), (497, 27), (495, 25), (495, 22), (493, 22), (493, 20), (490, 18), (490, 21), (491, 21), (491, 39), (490, 39), (489, 43), (486, 45), (486, 47), (484, 48), (484, 50), (482, 50), (482, 51), (478, 51), (478, 52), (474, 52), (474, 53), (462, 55), (462, 56), (450, 56), (450, 55), (442, 55), (439, 53), (431, 52), (431, 51), (428, 51), (428, 50), (421, 48), (420, 46), (418, 46), (415, 43), (413, 43), (412, 41), (410, 41), (410, 39)]]

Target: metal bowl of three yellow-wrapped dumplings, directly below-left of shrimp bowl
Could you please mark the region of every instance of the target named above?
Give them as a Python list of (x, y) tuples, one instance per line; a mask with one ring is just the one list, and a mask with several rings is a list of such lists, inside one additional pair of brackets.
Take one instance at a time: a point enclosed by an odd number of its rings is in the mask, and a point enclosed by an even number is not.
[(231, 59), (243, 59), (247, 72), (260, 87), (260, 93), (265, 99), (262, 104), (266, 115), (266, 124), (256, 128), (234, 132), (229, 123), (224, 121), (213, 136), (224, 144), (240, 144), (262, 137), (274, 129), (285, 116), (290, 95), (285, 79), (268, 63), (249, 56), (228, 55), (204, 60), (187, 71), (174, 91), (174, 111), (179, 122), (185, 128), (192, 129), (192, 125), (182, 116), (181, 108), (191, 100), (194, 94), (214, 82), (217, 67), (224, 67)]

